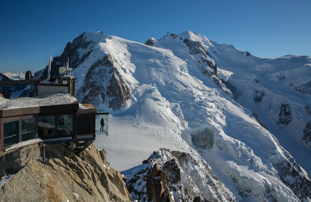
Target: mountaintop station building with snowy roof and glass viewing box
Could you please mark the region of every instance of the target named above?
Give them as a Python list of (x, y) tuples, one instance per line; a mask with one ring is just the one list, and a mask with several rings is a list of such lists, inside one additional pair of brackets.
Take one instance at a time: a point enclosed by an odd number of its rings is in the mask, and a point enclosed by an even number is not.
[[(109, 113), (96, 113), (92, 104), (79, 104), (72, 96), (75, 95), (74, 88), (64, 86), (75, 79), (68, 80), (66, 84), (38, 81), (41, 82), (37, 84), (39, 94), (49, 92), (50, 95), (17, 99), (0, 97), (0, 161), (4, 155), (29, 145), (43, 147), (65, 143), (71, 150), (83, 151), (94, 142), (97, 134), (108, 136)], [(68, 91), (64, 93), (64, 89)], [(100, 130), (102, 118), (104, 129)]]

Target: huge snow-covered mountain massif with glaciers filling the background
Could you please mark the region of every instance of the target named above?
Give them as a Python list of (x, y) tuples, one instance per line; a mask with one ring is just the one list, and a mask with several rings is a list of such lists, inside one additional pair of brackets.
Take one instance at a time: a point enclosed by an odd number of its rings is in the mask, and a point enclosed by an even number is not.
[[(79, 101), (112, 114), (109, 137), (96, 146), (118, 170), (137, 166), (124, 172), (127, 182), (142, 177), (142, 185), (148, 169), (163, 170), (174, 159), (165, 147), (191, 156), (178, 160), (183, 177), (169, 190), (181, 183), (204, 200), (311, 201), (309, 56), (261, 58), (186, 31), (145, 44), (85, 32), (54, 57), (54, 75), (67, 57)], [(204, 192), (202, 178), (217, 186)], [(133, 186), (134, 197), (146, 191)], [(188, 197), (180, 187), (174, 200)]]

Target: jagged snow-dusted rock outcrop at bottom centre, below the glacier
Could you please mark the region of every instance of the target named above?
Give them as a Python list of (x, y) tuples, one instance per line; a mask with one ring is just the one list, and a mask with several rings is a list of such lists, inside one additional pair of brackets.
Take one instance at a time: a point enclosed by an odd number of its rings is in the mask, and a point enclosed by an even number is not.
[(192, 202), (197, 196), (204, 201), (234, 201), (202, 158), (165, 148), (154, 151), (135, 169), (126, 186), (132, 200), (138, 201)]

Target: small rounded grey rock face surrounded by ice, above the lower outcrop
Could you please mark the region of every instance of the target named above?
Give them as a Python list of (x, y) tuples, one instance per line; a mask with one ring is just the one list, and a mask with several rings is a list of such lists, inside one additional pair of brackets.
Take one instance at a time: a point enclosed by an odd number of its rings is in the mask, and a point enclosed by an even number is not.
[(214, 145), (214, 135), (215, 131), (205, 128), (203, 131), (191, 134), (191, 140), (198, 149), (211, 149)]

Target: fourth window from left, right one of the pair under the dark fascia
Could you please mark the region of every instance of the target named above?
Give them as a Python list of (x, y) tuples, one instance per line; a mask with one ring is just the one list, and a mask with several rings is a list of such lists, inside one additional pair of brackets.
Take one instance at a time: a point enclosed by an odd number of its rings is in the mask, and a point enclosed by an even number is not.
[(57, 135), (69, 136), (73, 134), (73, 115), (59, 115), (57, 117)]

